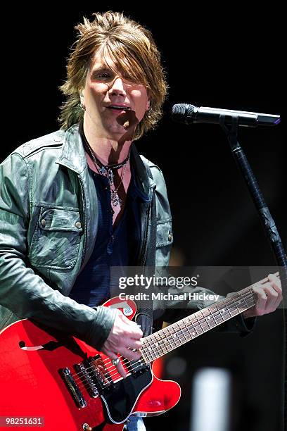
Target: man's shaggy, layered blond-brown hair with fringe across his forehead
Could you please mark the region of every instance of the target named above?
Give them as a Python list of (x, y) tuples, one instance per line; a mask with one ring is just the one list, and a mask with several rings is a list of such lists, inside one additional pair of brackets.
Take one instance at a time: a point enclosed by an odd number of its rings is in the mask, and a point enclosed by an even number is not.
[(144, 132), (155, 127), (162, 115), (167, 82), (160, 52), (151, 32), (122, 13), (108, 11), (93, 15), (93, 21), (84, 18), (84, 23), (75, 26), (79, 37), (68, 59), (67, 80), (60, 86), (60, 91), (66, 96), (60, 106), (60, 127), (66, 130), (82, 120), (84, 113), (79, 90), (84, 87), (94, 54), (101, 49), (103, 58), (111, 58), (117, 70), (141, 82), (151, 96), (150, 109), (136, 127), (134, 140), (139, 139)]

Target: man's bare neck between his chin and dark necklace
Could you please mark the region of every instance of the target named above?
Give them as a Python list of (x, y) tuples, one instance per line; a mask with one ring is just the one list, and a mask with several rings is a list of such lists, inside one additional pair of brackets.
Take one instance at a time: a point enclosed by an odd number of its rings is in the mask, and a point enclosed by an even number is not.
[(85, 122), (83, 131), (89, 146), (103, 165), (122, 163), (127, 158), (132, 141), (127, 141), (122, 136), (119, 139), (98, 136), (94, 130), (85, 125)]

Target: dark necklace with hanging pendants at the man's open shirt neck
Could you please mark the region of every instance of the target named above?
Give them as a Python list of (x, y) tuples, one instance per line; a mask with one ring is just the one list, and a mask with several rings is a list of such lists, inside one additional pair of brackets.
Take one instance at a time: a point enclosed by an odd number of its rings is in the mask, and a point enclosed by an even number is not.
[[(83, 127), (81, 127), (81, 134), (83, 137), (83, 142), (86, 150), (89, 153), (89, 156), (91, 156), (91, 160), (94, 162), (94, 165), (96, 166), (98, 173), (103, 175), (104, 177), (108, 178), (108, 182), (110, 185), (110, 199), (112, 201), (113, 206), (121, 206), (122, 205), (122, 199), (120, 199), (120, 196), (118, 195), (117, 191), (120, 189), (120, 186), (122, 185), (122, 180), (124, 179), (126, 170), (127, 170), (127, 162), (129, 161), (129, 154), (127, 155), (127, 158), (125, 158), (124, 161), (121, 163), (113, 163), (108, 165), (103, 165), (101, 161), (98, 160), (96, 157), (96, 154), (94, 154), (93, 149), (91, 148), (89, 142), (87, 141), (87, 138), (84, 135)], [(122, 168), (122, 175), (120, 177), (120, 184), (115, 188), (114, 183), (114, 174), (113, 170)]]

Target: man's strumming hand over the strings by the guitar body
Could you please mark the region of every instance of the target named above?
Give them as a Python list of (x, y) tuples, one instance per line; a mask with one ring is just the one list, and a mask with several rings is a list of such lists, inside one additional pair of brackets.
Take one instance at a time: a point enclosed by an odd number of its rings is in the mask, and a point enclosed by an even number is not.
[[(115, 322), (106, 342), (103, 344), (102, 351), (111, 359), (117, 359), (118, 354), (130, 361), (139, 359), (141, 357), (141, 352), (132, 350), (139, 350), (141, 348), (143, 332), (135, 322), (131, 322), (127, 319), (120, 310), (116, 311), (117, 316), (115, 317)], [(116, 367), (120, 375), (126, 377), (122, 364), (118, 363)]]

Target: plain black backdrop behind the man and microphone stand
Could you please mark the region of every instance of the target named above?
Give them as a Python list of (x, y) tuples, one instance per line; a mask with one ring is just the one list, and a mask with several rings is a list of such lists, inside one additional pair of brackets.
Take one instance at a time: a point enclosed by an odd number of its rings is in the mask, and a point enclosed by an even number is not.
[[(155, 3), (155, 2), (154, 2)], [(48, 6), (49, 5), (49, 6)], [(240, 6), (239, 6), (240, 5)], [(274, 4), (275, 6), (275, 4)], [(282, 15), (264, 4), (131, 4), (106, 2), (104, 9), (39, 4), (10, 8), (2, 26), (1, 159), (29, 139), (53, 132), (65, 79), (65, 58), (74, 25), (94, 11), (124, 11), (148, 27), (162, 52), (170, 85), (157, 130), (138, 142), (141, 154), (162, 169), (174, 226), (174, 258), (186, 266), (274, 264), (255, 207), (217, 125), (172, 123), (174, 103), (277, 113), (278, 127), (241, 129), (239, 139), (253, 167), (286, 246), (286, 140), (283, 131)], [(149, 430), (189, 430), (190, 392), (202, 366), (229, 368), (236, 409), (232, 430), (279, 430), (282, 311), (259, 318), (252, 335), (208, 334), (174, 355), (187, 363), (178, 381), (183, 390), (169, 413), (146, 420)], [(174, 358), (170, 355), (166, 364)], [(170, 370), (170, 368), (168, 368)], [(165, 373), (172, 378), (172, 374)]]

